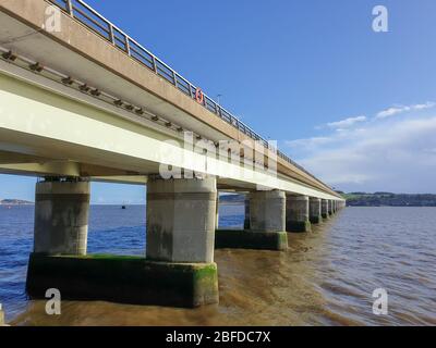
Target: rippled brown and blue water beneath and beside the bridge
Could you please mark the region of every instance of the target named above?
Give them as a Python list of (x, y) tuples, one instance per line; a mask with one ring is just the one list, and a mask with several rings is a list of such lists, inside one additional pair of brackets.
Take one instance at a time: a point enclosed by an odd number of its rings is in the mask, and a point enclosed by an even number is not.
[[(220, 208), (241, 227), (243, 207)], [(33, 207), (0, 207), (0, 302), (14, 325), (436, 325), (436, 209), (349, 208), (288, 252), (217, 250), (220, 303), (195, 310), (69, 301), (62, 315), (24, 293)], [(89, 252), (143, 254), (144, 207), (92, 207)], [(389, 295), (373, 314), (373, 290)]]

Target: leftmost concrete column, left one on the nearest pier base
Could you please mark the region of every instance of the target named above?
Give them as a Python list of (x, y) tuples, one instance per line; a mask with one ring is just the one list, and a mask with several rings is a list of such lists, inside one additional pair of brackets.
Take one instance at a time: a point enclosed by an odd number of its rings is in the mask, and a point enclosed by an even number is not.
[(89, 183), (36, 184), (34, 252), (86, 254)]

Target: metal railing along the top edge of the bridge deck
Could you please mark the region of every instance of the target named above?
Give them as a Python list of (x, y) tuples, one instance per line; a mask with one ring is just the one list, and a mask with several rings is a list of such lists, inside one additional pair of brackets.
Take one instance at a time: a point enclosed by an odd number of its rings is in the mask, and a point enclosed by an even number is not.
[[(111, 42), (114, 47), (122, 50), (124, 53), (129, 54), (132, 59), (136, 60), (147, 69), (154, 71), (157, 75), (166, 79), (168, 83), (172, 84), (180, 91), (191, 97), (192, 99), (196, 99), (196, 91), (198, 88), (193, 85), (190, 80), (181, 76), (173, 69), (167, 65), (164, 61), (158, 59), (156, 55), (150, 53), (147, 49), (145, 49), (137, 41), (132, 39), (129, 35), (126, 35), (123, 30), (112, 24), (110, 21), (105, 18), (101, 14), (99, 14), (96, 10), (89, 7), (82, 0), (48, 0), (51, 3), (59, 7), (62, 11), (66, 12), (73, 18), (77, 20), (90, 30), (101, 36), (104, 39)], [(291, 163), (296, 166), (305, 174), (310, 175), (316, 182), (325, 185), (320, 181), (318, 181), (314, 175), (308, 173), (304, 167), (300, 164), (295, 163), (288, 156), (272, 147), (268, 140), (263, 138), (256, 132), (254, 132), (246, 124), (238, 120), (238, 117), (233, 116), (229, 111), (222, 108), (220, 104), (215, 102), (207, 95), (203, 94), (203, 107), (206, 108), (211, 113), (216, 114), (218, 117), (232, 125), (234, 128), (239, 129), (241, 133), (245, 134), (250, 138), (254, 140), (258, 140), (263, 144), (263, 146), (272, 151), (277, 151), (277, 157), (283, 159), (284, 161)]]

